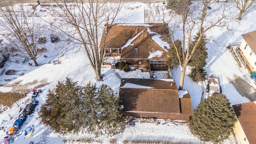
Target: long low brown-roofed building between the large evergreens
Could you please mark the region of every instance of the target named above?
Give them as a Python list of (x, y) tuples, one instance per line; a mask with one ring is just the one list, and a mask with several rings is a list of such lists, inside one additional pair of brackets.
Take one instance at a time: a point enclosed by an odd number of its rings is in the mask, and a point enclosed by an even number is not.
[(122, 78), (119, 96), (126, 116), (189, 120), (193, 115), (188, 91), (179, 91), (173, 79)]

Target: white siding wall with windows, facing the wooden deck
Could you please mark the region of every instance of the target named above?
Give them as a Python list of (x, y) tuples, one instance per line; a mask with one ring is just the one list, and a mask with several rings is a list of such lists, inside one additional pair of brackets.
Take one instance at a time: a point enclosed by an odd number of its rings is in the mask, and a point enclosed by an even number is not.
[[(252, 55), (250, 56), (250, 52), (252, 51), (252, 49), (250, 48), (249, 45), (246, 46), (246, 41), (243, 39), (242, 43), (240, 45), (240, 49), (244, 54), (244, 57), (246, 57), (246, 59), (248, 60), (248, 62), (250, 63), (250, 65), (252, 66), (253, 70), (256, 71), (256, 54), (254, 52), (252, 52)], [(244, 50), (244, 47), (246, 46), (246, 49)]]

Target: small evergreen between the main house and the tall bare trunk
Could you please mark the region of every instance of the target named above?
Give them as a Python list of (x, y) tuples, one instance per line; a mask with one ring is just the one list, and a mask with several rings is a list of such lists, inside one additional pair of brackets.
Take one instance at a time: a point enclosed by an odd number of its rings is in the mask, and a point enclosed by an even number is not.
[[(180, 54), (182, 54), (181, 41), (180, 40), (175, 40), (174, 43), (176, 44), (177, 49), (180, 52)], [(179, 60), (178, 60), (178, 56), (177, 56), (177, 52), (176, 52), (176, 49), (174, 47), (174, 44), (171, 44), (167, 54), (168, 54), (168, 58), (167, 58), (168, 66), (177, 67), (180, 63), (179, 63)], [(182, 60), (182, 56), (180, 56), (180, 60)]]

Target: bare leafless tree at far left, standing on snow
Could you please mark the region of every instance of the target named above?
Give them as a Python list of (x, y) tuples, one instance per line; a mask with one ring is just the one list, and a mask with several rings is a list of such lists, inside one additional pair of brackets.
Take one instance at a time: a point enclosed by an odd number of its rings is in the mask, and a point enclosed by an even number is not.
[(12, 0), (1, 3), (0, 27), (6, 30), (8, 45), (13, 47), (20, 56), (33, 60), (35, 66), (37, 56), (37, 40), (40, 29), (36, 28), (36, 20), (31, 16), (32, 8), (22, 4), (12, 5)]

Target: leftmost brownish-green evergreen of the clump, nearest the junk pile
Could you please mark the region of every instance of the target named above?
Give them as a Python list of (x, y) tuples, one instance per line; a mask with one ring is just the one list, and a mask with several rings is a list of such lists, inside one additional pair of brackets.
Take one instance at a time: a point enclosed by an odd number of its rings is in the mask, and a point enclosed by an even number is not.
[(49, 90), (48, 99), (42, 105), (40, 117), (46, 124), (59, 133), (79, 132), (84, 120), (81, 118), (82, 106), (80, 100), (82, 87), (70, 78), (58, 82), (56, 88)]

